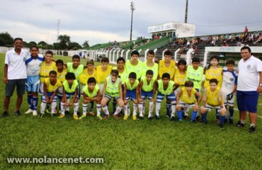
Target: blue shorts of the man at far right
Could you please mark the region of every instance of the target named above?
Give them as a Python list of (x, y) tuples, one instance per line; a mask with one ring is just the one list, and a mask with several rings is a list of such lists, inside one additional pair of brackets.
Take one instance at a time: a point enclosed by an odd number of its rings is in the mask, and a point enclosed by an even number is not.
[(258, 92), (257, 91), (237, 91), (237, 106), (239, 111), (249, 111), (257, 113)]

